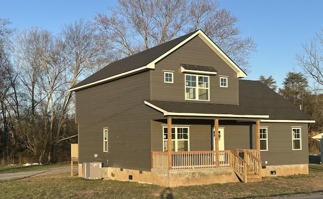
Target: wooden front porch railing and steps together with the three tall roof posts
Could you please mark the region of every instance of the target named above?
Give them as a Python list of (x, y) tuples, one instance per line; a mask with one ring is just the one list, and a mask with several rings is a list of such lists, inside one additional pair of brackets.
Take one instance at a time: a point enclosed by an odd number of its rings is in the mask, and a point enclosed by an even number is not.
[[(190, 170), (208, 168), (232, 168), (240, 181), (261, 181), (260, 161), (260, 120), (255, 121), (255, 150), (222, 150), (220, 146), (219, 119), (213, 120), (212, 129), (212, 151), (198, 151), (181, 148), (182, 151), (174, 150), (174, 128), (172, 132), (172, 117), (167, 118), (167, 131), (164, 131), (164, 151), (152, 152), (152, 169), (163, 170)], [(250, 127), (249, 127), (250, 128)], [(166, 136), (167, 135), (167, 136)], [(172, 137), (173, 135), (173, 137)], [(175, 136), (176, 138), (176, 136)], [(223, 141), (223, 138), (222, 138)], [(168, 150), (171, 149), (172, 150)]]

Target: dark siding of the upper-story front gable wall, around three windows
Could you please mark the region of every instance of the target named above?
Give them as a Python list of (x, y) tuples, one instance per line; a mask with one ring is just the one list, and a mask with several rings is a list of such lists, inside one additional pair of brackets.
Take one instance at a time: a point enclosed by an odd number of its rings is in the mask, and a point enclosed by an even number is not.
[[(216, 76), (210, 76), (210, 101), (205, 103), (238, 105), (237, 74), (199, 37), (156, 64), (151, 72), (151, 100), (185, 102), (185, 74), (181, 73), (180, 64), (208, 66), (218, 71)], [(163, 70), (174, 71), (173, 84), (164, 83)], [(219, 75), (228, 76), (228, 88), (220, 87)]]

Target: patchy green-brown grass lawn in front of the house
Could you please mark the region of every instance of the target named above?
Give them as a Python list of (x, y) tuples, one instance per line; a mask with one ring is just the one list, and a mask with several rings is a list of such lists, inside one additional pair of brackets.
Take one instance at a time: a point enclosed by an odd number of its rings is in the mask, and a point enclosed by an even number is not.
[(309, 175), (265, 177), (261, 182), (251, 183), (175, 188), (115, 180), (84, 180), (69, 175), (65, 173), (2, 180), (0, 198), (282, 198), (323, 194), (323, 165), (318, 164), (309, 165)]

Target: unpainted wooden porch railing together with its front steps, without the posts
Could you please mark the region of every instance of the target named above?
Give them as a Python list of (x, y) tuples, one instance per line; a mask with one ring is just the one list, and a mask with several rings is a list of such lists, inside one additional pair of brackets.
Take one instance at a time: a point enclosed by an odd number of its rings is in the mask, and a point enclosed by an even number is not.
[(261, 181), (261, 161), (257, 150), (152, 152), (152, 169), (193, 170), (232, 168), (242, 182)]

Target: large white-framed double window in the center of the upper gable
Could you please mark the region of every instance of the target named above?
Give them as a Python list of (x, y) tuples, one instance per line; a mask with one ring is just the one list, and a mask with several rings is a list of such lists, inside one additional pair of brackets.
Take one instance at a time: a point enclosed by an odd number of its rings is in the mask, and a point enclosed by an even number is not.
[(185, 100), (209, 101), (209, 77), (185, 75)]

